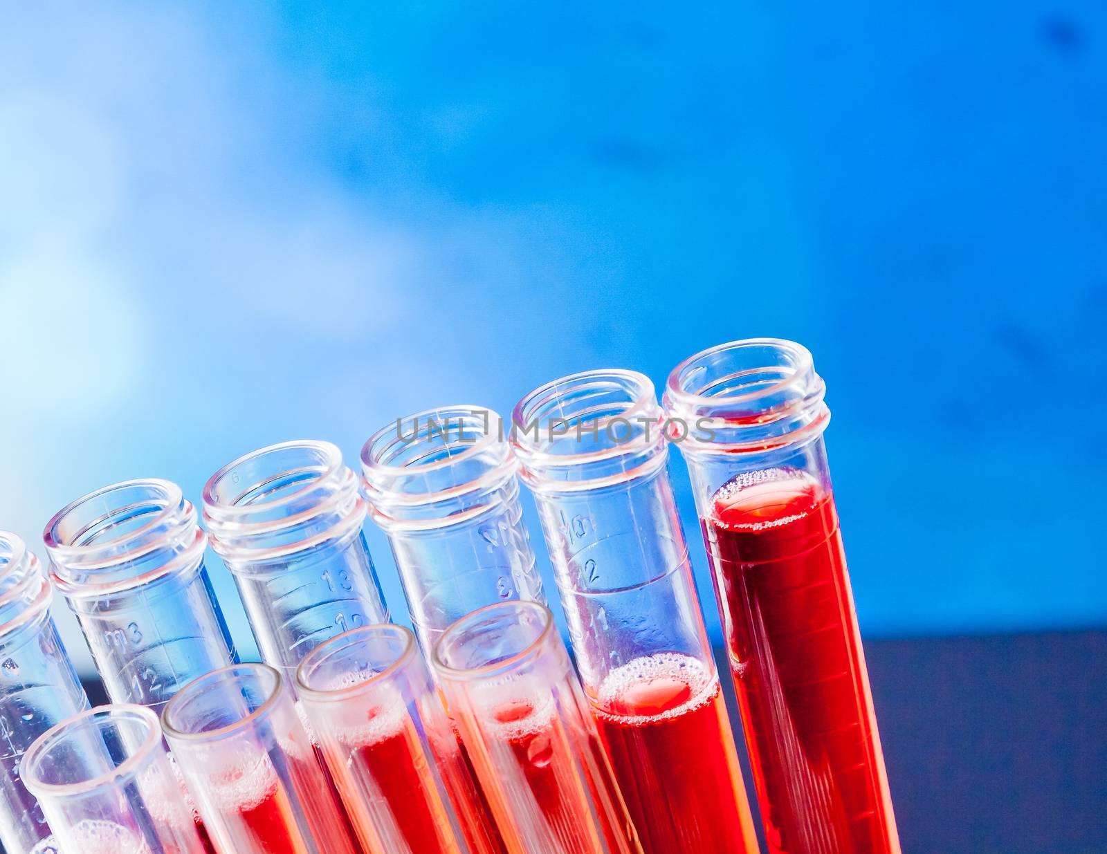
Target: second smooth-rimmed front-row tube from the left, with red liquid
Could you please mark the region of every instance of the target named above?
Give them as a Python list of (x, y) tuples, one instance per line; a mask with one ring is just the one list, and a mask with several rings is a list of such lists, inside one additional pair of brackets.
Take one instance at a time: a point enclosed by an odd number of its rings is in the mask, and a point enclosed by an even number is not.
[(358, 854), (280, 673), (224, 667), (166, 704), (162, 726), (223, 854)]

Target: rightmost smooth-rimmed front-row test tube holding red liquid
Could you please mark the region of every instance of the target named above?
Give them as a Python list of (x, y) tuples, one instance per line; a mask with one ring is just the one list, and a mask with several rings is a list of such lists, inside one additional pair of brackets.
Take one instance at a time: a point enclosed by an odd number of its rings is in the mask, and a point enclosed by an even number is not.
[(509, 854), (641, 854), (545, 605), (480, 608), (433, 655)]

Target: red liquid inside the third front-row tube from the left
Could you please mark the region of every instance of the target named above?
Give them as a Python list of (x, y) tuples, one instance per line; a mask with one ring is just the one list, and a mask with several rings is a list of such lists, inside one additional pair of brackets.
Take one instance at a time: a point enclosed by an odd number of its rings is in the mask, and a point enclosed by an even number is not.
[[(369, 795), (348, 793), (350, 816), (362, 839), (381, 839), (385, 851), (458, 854), (418, 733), (402, 705), (397, 711), (395, 720), (383, 720), (377, 716), (389, 716), (387, 711), (370, 709), (371, 729), (361, 733), (361, 743), (348, 754), (353, 778)], [(374, 719), (381, 726), (372, 728)], [(384, 815), (374, 820), (366, 801), (373, 813)]]

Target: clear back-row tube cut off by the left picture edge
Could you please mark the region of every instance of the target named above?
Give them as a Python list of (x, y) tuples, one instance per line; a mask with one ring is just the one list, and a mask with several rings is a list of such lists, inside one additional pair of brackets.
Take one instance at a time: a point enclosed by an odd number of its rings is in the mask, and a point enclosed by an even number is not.
[(21, 768), (34, 739), (89, 708), (50, 616), (51, 598), (38, 558), (0, 531), (0, 843), (8, 854), (56, 854)]

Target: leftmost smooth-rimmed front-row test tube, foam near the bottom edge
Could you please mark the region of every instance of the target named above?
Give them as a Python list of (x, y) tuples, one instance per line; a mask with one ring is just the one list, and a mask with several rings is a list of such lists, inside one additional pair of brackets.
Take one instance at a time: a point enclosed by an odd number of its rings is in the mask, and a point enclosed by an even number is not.
[(134, 705), (80, 712), (27, 751), (24, 779), (60, 854), (206, 854), (157, 716)]

